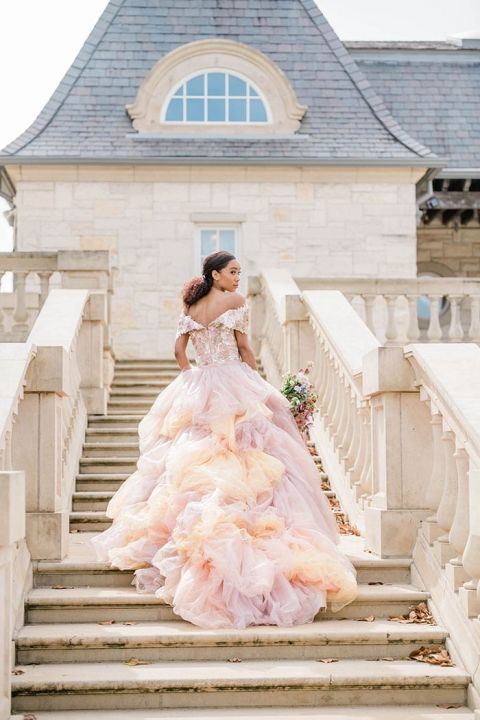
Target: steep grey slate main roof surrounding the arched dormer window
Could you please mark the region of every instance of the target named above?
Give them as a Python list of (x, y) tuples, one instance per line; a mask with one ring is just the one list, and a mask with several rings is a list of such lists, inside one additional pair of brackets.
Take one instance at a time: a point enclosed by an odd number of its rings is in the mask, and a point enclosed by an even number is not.
[[(282, 68), (308, 106), (290, 138), (148, 137), (132, 103), (151, 67), (185, 43), (249, 44)], [(111, 0), (33, 125), (0, 154), (31, 161), (441, 165), (392, 118), (313, 0)]]

